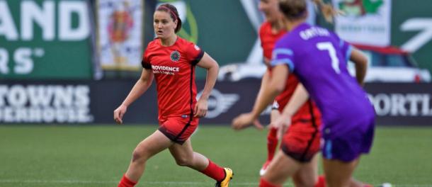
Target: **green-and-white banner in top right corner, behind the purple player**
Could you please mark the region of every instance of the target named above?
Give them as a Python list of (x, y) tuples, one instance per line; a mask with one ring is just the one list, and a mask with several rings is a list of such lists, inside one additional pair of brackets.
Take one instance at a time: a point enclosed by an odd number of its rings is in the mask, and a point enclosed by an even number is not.
[[(336, 30), (354, 42), (374, 46), (391, 45), (409, 52), (421, 69), (432, 72), (432, 1), (431, 0), (325, 0), (345, 12), (336, 24), (319, 18), (319, 25)], [(390, 8), (387, 10), (387, 8)], [(390, 19), (387, 15), (390, 13)], [(338, 21), (351, 18), (338, 30)], [(366, 26), (362, 26), (362, 24)], [(354, 25), (354, 26), (352, 26)], [(390, 32), (387, 32), (389, 30)], [(371, 31), (370, 33), (362, 31)], [(390, 39), (390, 40), (389, 40)], [(364, 42), (368, 41), (368, 42)]]

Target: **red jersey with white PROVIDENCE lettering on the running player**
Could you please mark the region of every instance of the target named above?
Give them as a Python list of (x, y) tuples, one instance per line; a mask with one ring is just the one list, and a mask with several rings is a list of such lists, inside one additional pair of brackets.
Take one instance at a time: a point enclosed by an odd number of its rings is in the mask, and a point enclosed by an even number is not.
[(193, 42), (177, 37), (165, 47), (159, 39), (149, 42), (142, 67), (152, 69), (157, 84), (159, 122), (167, 118), (191, 118), (196, 103), (195, 65), (204, 52)]

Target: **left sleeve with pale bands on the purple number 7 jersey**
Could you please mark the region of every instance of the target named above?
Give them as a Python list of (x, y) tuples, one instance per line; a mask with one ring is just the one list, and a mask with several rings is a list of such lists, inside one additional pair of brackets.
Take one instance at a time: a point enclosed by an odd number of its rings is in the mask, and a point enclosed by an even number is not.
[(287, 64), (290, 72), (294, 71), (294, 52), (288, 46), (284, 46), (283, 40), (276, 42), (271, 55), (271, 66), (275, 67), (279, 64)]

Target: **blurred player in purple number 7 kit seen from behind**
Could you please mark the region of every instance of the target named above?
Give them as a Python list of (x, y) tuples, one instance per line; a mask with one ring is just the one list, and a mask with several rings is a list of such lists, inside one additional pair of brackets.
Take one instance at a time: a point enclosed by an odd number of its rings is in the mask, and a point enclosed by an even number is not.
[[(234, 119), (233, 125), (242, 127), (254, 121), (283, 90), (288, 74), (293, 73), (322, 112), (324, 141), (321, 149), (327, 185), (360, 186), (362, 184), (353, 183), (351, 176), (360, 154), (370, 151), (375, 128), (373, 106), (359, 85), (363, 84), (367, 60), (336, 34), (305, 23), (305, 0), (280, 0), (280, 10), (287, 18), (290, 33), (276, 42), (271, 61), (271, 83), (254, 110)], [(348, 59), (356, 63), (357, 82), (346, 68)], [(308, 98), (307, 94), (297, 93), (294, 97), (298, 99), (292, 100), (280, 121), (289, 123), (291, 116)], [(281, 163), (290, 162), (296, 168), (302, 165), (283, 154), (276, 157)], [(260, 186), (281, 186), (288, 176), (292, 176), (293, 170), (272, 162), (261, 178)]]

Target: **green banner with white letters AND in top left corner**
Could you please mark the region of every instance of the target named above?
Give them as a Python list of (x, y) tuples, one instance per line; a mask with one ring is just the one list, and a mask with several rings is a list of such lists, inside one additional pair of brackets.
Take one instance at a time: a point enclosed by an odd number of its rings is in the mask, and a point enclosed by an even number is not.
[(0, 0), (0, 79), (91, 79), (87, 1)]

